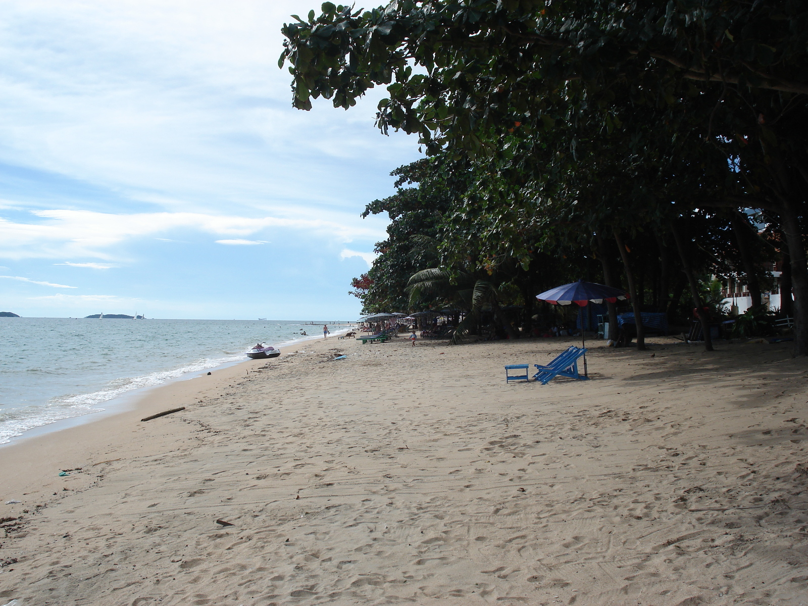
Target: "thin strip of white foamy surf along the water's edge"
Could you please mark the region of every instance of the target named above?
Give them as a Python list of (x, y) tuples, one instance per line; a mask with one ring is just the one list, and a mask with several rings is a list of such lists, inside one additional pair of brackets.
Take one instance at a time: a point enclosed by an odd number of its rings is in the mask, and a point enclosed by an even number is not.
[[(78, 318), (78, 319), (86, 319), (86, 318)], [(338, 332), (335, 332), (333, 334), (335, 336), (339, 336), (343, 335), (344, 333), (350, 330), (351, 328), (346, 328), (345, 330), (339, 330)], [(281, 356), (283, 356), (288, 349), (292, 347), (300, 347), (303, 343), (308, 343), (309, 341), (316, 341), (317, 339), (322, 340), (322, 337), (318, 337), (316, 335), (306, 335), (305, 337), (301, 337), (301, 339), (292, 339), (291, 341), (288, 341), (286, 343), (281, 343), (277, 347), (281, 351)], [(8, 442), (0, 444), (0, 452), (2, 452), (2, 448), (6, 448), (14, 444), (20, 444), (24, 440), (29, 440), (38, 436), (46, 436), (50, 433), (57, 431), (65, 431), (70, 427), (78, 427), (85, 423), (95, 423), (96, 421), (105, 419), (110, 415), (118, 415), (127, 410), (133, 410), (134, 408), (137, 408), (138, 402), (140, 402), (143, 398), (149, 397), (149, 393), (154, 389), (161, 389), (166, 385), (171, 385), (172, 383), (178, 381), (191, 381), (194, 378), (205, 375), (207, 372), (215, 372), (224, 368), (229, 368), (231, 366), (235, 366), (250, 361), (251, 360), (249, 358), (246, 358), (246, 360), (243, 359), (229, 360), (221, 364), (217, 364), (217, 366), (212, 366), (210, 368), (184, 372), (182, 375), (179, 375), (179, 377), (172, 377), (162, 383), (159, 383), (158, 385), (139, 387), (136, 389), (132, 389), (130, 391), (126, 391), (124, 393), (120, 393), (114, 396), (113, 398), (95, 404), (93, 409), (90, 409), (86, 413), (83, 413), (81, 415), (66, 417), (65, 419), (58, 419), (50, 423), (44, 423), (42, 425), (32, 427), (31, 429), (27, 429), (18, 436), (11, 436)], [(154, 372), (170, 372), (170, 371), (154, 371)], [(99, 393), (99, 391), (91, 393)], [(83, 395), (89, 395), (89, 394), (83, 394)]]

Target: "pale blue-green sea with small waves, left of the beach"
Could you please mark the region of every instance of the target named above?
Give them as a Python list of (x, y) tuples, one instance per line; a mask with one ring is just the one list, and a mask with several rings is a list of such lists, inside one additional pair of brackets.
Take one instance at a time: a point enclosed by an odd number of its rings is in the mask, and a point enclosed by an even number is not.
[[(335, 335), (348, 327), (313, 322)], [(255, 343), (316, 338), (322, 326), (302, 321), (0, 318), (0, 444), (247, 360), (244, 352)]]

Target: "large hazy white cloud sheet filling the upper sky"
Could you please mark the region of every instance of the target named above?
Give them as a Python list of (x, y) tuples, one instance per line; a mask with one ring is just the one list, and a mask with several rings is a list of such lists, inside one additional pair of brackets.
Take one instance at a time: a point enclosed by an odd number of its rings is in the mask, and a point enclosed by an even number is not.
[(356, 214), (417, 143), (373, 127), (383, 88), (350, 112), (291, 107), (280, 26), (314, 4), (8, 0), (0, 161), (171, 210)]

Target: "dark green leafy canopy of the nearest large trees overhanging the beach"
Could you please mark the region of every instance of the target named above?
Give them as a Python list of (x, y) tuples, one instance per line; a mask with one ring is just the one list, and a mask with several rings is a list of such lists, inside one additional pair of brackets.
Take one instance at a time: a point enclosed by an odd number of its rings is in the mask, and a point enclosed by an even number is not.
[[(382, 131), (419, 133), (465, 175), (442, 212), (444, 267), (528, 271), (537, 251), (583, 254), (606, 238), (634, 288), (625, 238), (653, 233), (701, 309), (700, 251), (729, 251), (734, 238), (738, 255), (712, 255), (713, 269), (760, 273), (753, 211), (787, 246), (808, 355), (804, 3), (325, 2), (296, 19), (280, 60), (296, 107), (323, 96), (347, 108), (387, 85)], [(693, 225), (707, 231), (688, 237)]]

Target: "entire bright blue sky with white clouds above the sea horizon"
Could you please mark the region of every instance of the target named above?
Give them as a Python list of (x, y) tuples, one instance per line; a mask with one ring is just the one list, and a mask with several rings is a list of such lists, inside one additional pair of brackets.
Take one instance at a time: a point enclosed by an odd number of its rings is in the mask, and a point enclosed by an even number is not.
[(360, 213), (419, 151), (383, 89), (292, 108), (280, 27), (319, 5), (3, 2), (0, 311), (356, 319)]

